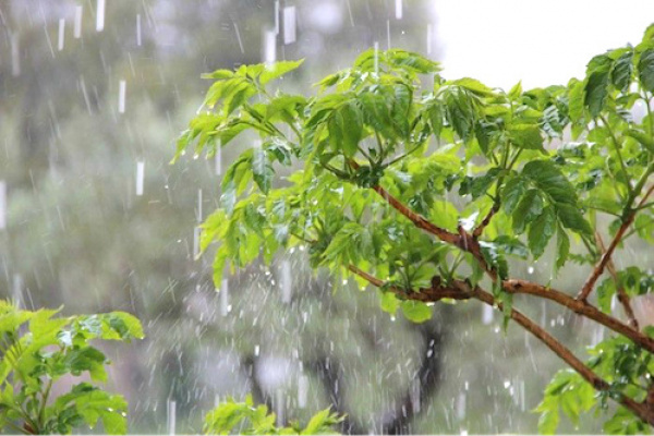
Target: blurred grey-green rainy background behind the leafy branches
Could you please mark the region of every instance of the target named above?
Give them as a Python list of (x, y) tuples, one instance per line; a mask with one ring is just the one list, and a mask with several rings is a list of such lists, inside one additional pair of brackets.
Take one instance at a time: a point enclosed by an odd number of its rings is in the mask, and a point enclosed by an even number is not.
[[(0, 294), (143, 320), (145, 340), (106, 348), (131, 433), (197, 433), (216, 401), (246, 392), (282, 421), (331, 404), (349, 433), (534, 433), (530, 410), (561, 363), (481, 305), (411, 325), (382, 313), (376, 291), (312, 275), (301, 251), (216, 293), (196, 228), (219, 170), (251, 144), (230, 144), (220, 165), (169, 165), (208, 86), (201, 73), (305, 58), (280, 86), (310, 93), (375, 43), (438, 60), (439, 25), (428, 0), (2, 0)], [(547, 261), (513, 271), (550, 279)], [(576, 289), (581, 272), (557, 283)], [(603, 335), (523, 308), (577, 350)]]

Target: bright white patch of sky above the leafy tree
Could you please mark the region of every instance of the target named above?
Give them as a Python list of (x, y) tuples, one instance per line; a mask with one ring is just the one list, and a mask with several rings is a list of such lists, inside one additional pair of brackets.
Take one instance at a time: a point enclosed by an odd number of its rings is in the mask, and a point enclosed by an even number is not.
[(638, 44), (654, 0), (434, 0), (446, 78), (510, 88), (566, 84), (608, 49)]

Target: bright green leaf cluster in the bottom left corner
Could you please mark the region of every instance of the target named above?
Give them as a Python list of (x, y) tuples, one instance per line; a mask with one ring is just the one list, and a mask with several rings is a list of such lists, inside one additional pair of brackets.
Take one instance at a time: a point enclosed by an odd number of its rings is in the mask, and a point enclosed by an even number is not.
[[(128, 404), (97, 386), (107, 380), (110, 362), (90, 341), (141, 339), (141, 324), (123, 312), (55, 317), (58, 312), (0, 301), (0, 428), (70, 434), (101, 421), (106, 433), (124, 434)], [(90, 382), (51, 398), (57, 382), (84, 374)]]

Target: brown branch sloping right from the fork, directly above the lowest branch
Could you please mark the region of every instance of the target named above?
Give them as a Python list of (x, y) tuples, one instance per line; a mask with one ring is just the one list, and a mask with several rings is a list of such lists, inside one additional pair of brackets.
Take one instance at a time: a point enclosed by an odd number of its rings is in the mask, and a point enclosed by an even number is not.
[(650, 351), (651, 353), (654, 353), (653, 339), (635, 330), (631, 326), (620, 322), (619, 319), (616, 319), (613, 316), (605, 314), (597, 307), (592, 306), (584, 301), (577, 300), (568, 295), (567, 293), (557, 291), (556, 289), (546, 288), (544, 286), (533, 283), (531, 281), (516, 279), (505, 280), (502, 282), (502, 288), (510, 293), (531, 294), (554, 301), (555, 303), (568, 307), (576, 314), (593, 319), (602, 324), (603, 326), (614, 330), (615, 332), (618, 332), (631, 339), (634, 343), (638, 343), (645, 350)]

